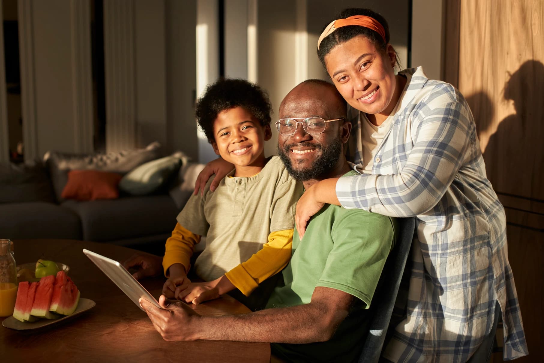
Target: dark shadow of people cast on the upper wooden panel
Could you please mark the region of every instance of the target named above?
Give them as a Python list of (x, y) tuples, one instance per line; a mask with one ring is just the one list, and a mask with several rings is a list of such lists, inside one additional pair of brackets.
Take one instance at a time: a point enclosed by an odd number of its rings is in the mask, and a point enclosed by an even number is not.
[(544, 64), (527, 60), (509, 73), (502, 94), (496, 95), (495, 100), (485, 92), (467, 97), (476, 121), (487, 179), (499, 194), (544, 200), (544, 191), (539, 187), (544, 177), (543, 94)]

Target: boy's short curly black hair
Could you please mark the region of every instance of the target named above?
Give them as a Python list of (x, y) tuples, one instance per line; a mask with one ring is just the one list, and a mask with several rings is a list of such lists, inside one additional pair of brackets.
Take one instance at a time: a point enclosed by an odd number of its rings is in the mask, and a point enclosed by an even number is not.
[(221, 78), (209, 84), (202, 97), (196, 101), (196, 121), (209, 143), (215, 142), (213, 124), (217, 116), (234, 107), (244, 108), (263, 126), (270, 124), (272, 106), (265, 91), (245, 79)]

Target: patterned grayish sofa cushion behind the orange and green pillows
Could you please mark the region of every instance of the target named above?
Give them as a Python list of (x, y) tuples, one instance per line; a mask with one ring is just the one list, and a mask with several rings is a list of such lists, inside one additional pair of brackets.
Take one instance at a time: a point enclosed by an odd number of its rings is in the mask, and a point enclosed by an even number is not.
[(101, 170), (126, 174), (139, 165), (162, 156), (160, 144), (155, 142), (145, 149), (135, 149), (106, 154), (73, 154), (58, 151), (48, 151), (44, 161), (50, 171), (51, 180), (57, 200), (63, 201), (61, 194), (68, 181), (70, 170)]

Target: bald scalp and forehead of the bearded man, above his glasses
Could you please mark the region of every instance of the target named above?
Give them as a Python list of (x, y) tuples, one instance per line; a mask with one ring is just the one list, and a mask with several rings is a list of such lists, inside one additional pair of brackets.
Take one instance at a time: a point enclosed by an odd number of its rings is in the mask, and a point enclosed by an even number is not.
[[(347, 103), (338, 93), (335, 85), (322, 79), (307, 79), (293, 88), (280, 104), (280, 118), (289, 118), (295, 109), (305, 107), (311, 108), (312, 102), (319, 102), (324, 106), (326, 117), (329, 119), (345, 118), (347, 114)], [(308, 115), (317, 116), (317, 115)]]

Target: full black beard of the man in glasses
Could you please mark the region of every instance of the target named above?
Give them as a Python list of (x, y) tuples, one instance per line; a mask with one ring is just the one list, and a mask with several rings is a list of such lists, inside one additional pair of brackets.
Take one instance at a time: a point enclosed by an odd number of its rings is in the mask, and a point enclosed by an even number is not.
[[(289, 153), (293, 147), (312, 147), (318, 150), (321, 150), (321, 156), (315, 159), (310, 165), (310, 168), (304, 170), (295, 170), (291, 159), (289, 158)], [(280, 145), (277, 146), (277, 153), (280, 156), (281, 161), (287, 168), (289, 174), (294, 177), (294, 179), (299, 181), (307, 181), (312, 179), (322, 179), (326, 174), (329, 174), (332, 169), (336, 166), (338, 159), (340, 158), (340, 153), (342, 152), (342, 140), (338, 136), (332, 142), (323, 147), (319, 144), (313, 143), (300, 143), (300, 144), (290, 144), (280, 148)]]

